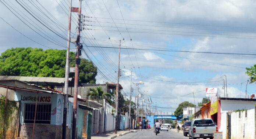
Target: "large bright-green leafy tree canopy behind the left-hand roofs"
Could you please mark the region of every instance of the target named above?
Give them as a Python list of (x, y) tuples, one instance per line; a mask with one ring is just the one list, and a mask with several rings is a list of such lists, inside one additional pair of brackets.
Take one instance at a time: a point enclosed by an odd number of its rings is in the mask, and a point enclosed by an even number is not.
[[(11, 48), (0, 56), (0, 75), (65, 77), (66, 50)], [(75, 67), (75, 53), (70, 52), (70, 67)], [(97, 67), (86, 59), (79, 65), (79, 82), (95, 83)], [(75, 74), (70, 73), (74, 78)]]

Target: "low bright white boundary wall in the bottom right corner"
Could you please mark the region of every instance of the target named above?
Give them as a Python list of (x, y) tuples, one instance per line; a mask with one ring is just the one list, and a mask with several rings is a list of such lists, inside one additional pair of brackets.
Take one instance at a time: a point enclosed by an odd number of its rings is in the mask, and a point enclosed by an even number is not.
[(243, 125), (245, 125), (245, 139), (255, 139), (255, 109), (247, 110), (247, 117), (245, 111), (231, 113), (231, 138), (243, 138)]

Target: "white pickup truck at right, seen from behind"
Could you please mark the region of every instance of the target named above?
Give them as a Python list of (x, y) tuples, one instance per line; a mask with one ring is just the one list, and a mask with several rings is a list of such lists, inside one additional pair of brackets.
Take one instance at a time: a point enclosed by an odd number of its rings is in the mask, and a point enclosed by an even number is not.
[(213, 133), (218, 131), (218, 127), (211, 118), (194, 119), (188, 128), (189, 138), (210, 138), (213, 139)]

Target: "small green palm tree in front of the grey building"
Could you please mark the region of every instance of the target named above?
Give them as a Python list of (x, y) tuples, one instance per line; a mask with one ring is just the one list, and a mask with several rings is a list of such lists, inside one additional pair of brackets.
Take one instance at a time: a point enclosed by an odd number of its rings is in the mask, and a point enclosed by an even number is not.
[(96, 89), (95, 88), (89, 88), (88, 96), (90, 96), (91, 99), (107, 99), (109, 101), (109, 97), (111, 97), (110, 93), (106, 93), (102, 90), (102, 87), (99, 86)]

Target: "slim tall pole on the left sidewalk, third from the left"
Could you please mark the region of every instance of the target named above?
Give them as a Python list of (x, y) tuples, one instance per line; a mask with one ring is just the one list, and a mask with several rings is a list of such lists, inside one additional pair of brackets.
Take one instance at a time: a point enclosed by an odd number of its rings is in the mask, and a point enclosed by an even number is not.
[(118, 89), (119, 89), (119, 76), (120, 76), (120, 47), (121, 40), (119, 40), (119, 54), (118, 54), (118, 75), (117, 75), (117, 89), (115, 91), (115, 134), (117, 133), (117, 118), (118, 118)]

